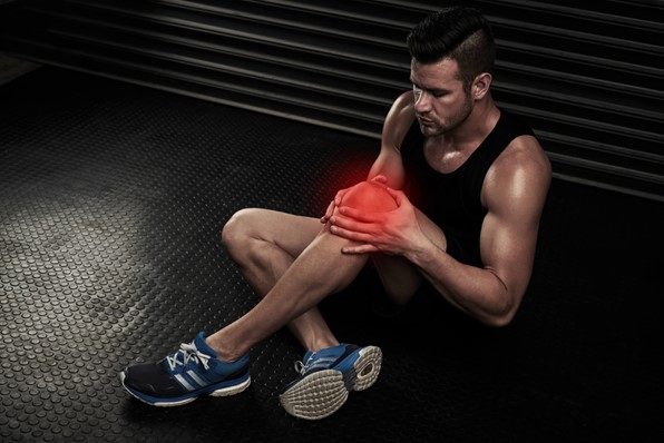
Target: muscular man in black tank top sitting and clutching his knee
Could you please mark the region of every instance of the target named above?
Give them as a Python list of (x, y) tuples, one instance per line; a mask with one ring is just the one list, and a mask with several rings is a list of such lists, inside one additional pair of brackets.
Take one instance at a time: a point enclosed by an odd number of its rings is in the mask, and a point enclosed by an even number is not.
[(390, 109), (368, 180), (339, 191), (321, 219), (235, 214), (223, 242), (262, 301), (165, 360), (126, 368), (134, 396), (169, 406), (242, 392), (251, 347), (287, 325), (306, 353), (281, 404), (302, 419), (334, 413), (375, 382), (382, 354), (340, 344), (316, 305), (369, 260), (397, 307), (424, 291), (484, 324), (510, 323), (530, 279), (550, 164), (491, 98), (494, 37), (479, 11), (431, 14), (408, 46), (413, 89)]

